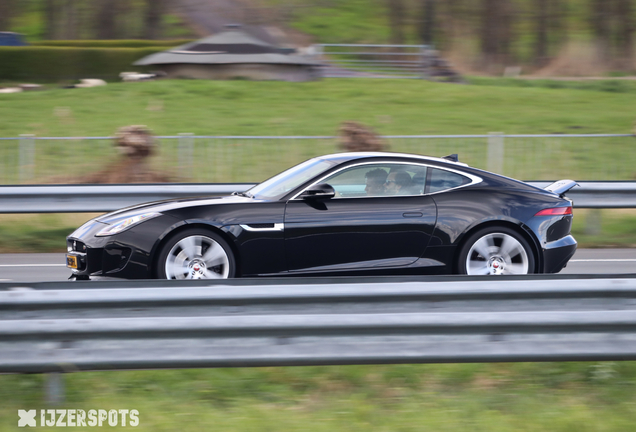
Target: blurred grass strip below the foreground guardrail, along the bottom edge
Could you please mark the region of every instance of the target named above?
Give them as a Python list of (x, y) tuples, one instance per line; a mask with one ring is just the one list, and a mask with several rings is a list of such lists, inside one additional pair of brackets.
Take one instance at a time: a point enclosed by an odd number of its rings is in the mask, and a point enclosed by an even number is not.
[[(636, 421), (634, 362), (82, 372), (64, 381), (58, 408), (137, 409), (135, 430), (148, 431), (632, 432)], [(17, 429), (18, 409), (49, 408), (43, 386), (42, 375), (0, 376), (0, 430)]]

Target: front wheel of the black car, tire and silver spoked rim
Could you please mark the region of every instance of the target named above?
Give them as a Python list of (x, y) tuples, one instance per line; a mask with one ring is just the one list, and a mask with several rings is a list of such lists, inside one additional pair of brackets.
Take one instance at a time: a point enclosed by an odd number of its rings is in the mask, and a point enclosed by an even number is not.
[(235, 276), (236, 261), (220, 235), (190, 228), (163, 245), (156, 274), (159, 279), (227, 279)]

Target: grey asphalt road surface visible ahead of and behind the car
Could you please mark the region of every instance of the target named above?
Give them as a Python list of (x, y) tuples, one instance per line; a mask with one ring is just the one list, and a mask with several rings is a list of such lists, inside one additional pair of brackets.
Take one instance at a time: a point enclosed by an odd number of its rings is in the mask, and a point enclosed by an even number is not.
[[(0, 282), (54, 282), (71, 275), (64, 254), (0, 254)], [(579, 249), (562, 274), (636, 273), (636, 249)]]

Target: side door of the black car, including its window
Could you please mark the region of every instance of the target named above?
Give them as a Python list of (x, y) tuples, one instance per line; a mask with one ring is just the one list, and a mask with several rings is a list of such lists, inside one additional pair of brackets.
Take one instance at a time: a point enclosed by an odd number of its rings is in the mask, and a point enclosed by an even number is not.
[[(333, 198), (297, 194), (285, 209), (288, 270), (372, 269), (415, 262), (437, 218), (435, 202), (423, 195), (426, 170), (419, 164), (363, 163), (313, 183), (331, 185)], [(394, 172), (408, 174), (400, 174), (408, 177), (408, 184), (389, 192), (386, 179)]]

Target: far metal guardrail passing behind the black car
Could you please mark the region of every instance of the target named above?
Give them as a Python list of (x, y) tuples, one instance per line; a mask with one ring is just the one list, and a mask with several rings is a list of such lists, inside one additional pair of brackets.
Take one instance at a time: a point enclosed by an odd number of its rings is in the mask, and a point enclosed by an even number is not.
[[(529, 182), (544, 188), (551, 182)], [(576, 208), (636, 208), (636, 182), (579, 182), (568, 192)], [(0, 213), (106, 212), (171, 198), (229, 195), (252, 183), (0, 186)]]

